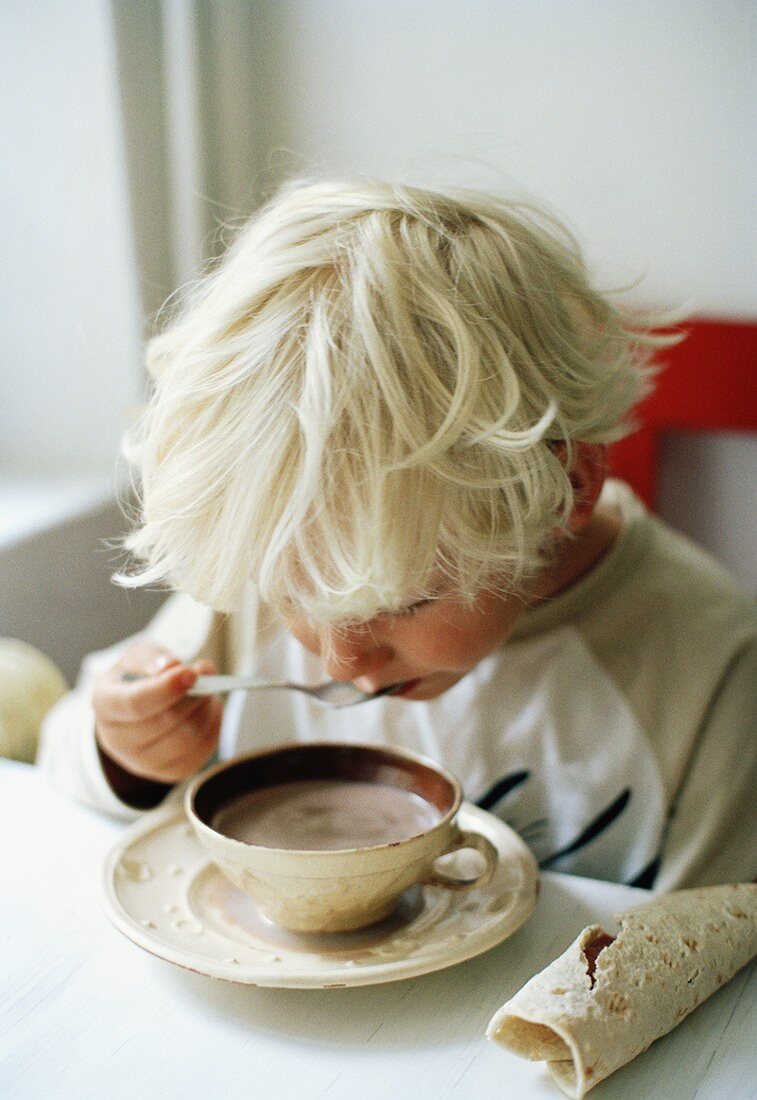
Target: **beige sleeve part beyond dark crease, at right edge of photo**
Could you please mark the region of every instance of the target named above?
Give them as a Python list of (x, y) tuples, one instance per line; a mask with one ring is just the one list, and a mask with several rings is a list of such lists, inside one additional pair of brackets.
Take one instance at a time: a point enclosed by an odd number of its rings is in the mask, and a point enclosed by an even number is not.
[(663, 840), (655, 890), (757, 875), (757, 641), (713, 697)]

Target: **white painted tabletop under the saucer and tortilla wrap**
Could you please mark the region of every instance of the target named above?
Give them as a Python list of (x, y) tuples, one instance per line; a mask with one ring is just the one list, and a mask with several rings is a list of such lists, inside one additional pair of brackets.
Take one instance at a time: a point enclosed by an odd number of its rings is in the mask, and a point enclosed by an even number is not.
[[(0, 762), (0, 1096), (52, 1100), (559, 1100), (544, 1067), (486, 1041), (494, 1011), (584, 925), (641, 890), (542, 876), (511, 939), (447, 970), (341, 990), (182, 970), (109, 923), (100, 869), (124, 825)], [(754, 968), (590, 1094), (754, 1100)]]

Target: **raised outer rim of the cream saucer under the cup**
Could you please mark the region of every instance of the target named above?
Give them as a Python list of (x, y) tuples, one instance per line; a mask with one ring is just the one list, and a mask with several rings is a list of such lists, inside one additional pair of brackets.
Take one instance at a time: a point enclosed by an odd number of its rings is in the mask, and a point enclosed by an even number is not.
[[(250, 963), (235, 964), (220, 959), (206, 959), (194, 956), (191, 952), (157, 942), (155, 935), (151, 934), (151, 930), (140, 924), (122, 904), (116, 890), (116, 868), (129, 849), (150, 833), (158, 832), (173, 824), (189, 824), (183, 806), (176, 803), (172, 803), (169, 807), (151, 811), (144, 820), (130, 826), (118, 844), (111, 847), (103, 862), (100, 880), (101, 904), (111, 924), (131, 943), (154, 958), (221, 981), (261, 988), (342, 989), (418, 978), (425, 974), (457, 966), (459, 963), (475, 958), (504, 943), (525, 924), (536, 909), (539, 893), (539, 870), (530, 849), (517, 833), (494, 814), (469, 802), (461, 804), (458, 821), (462, 828), (471, 828), (478, 823), (484, 831), (487, 831), (490, 840), (500, 850), (502, 846), (506, 845), (508, 860), (515, 859), (520, 866), (523, 883), (514, 904), (503, 914), (501, 923), (494, 922), (480, 934), (472, 933), (465, 939), (460, 941), (454, 948), (448, 946), (443, 953), (439, 952), (438, 955), (430, 954), (428, 950), (409, 950), (401, 958), (367, 964), (362, 967), (348, 967), (345, 961), (334, 960), (334, 965), (330, 969), (319, 968), (316, 971), (304, 964), (299, 970), (293, 969), (282, 972), (265, 963), (257, 966)], [(197, 837), (193, 837), (193, 839), (199, 848)], [(212, 864), (213, 860), (207, 856), (202, 866), (194, 870), (193, 881)], [(218, 875), (221, 873), (218, 870)], [(468, 892), (450, 891), (450, 904), (462, 904), (470, 897), (471, 894)], [(398, 930), (396, 935), (402, 935), (403, 931)], [(392, 938), (390, 936), (387, 943), (391, 943)], [(230, 954), (233, 954), (231, 944)]]

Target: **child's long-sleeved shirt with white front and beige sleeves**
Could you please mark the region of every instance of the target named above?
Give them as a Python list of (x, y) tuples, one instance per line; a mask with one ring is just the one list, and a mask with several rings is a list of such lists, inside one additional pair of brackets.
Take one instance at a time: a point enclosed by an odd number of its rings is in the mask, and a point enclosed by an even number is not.
[[(612, 550), (439, 698), (332, 711), (298, 693), (240, 694), (221, 756), (295, 739), (402, 745), (453, 771), (544, 867), (655, 889), (753, 879), (754, 603), (626, 486), (608, 483), (603, 503), (624, 521)], [(173, 596), (145, 636), (224, 671), (322, 679), (252, 592), (226, 619)], [(87, 659), (45, 721), (40, 762), (73, 796), (133, 817), (102, 772), (90, 703), (121, 649)]]

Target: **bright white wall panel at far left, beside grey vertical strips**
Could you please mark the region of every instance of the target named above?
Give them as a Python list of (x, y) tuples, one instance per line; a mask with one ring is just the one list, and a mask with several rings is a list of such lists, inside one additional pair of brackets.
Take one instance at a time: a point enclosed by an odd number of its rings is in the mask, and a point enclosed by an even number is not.
[(0, 147), (0, 476), (111, 471), (142, 319), (102, 0), (2, 6)]

